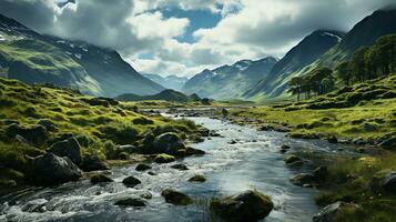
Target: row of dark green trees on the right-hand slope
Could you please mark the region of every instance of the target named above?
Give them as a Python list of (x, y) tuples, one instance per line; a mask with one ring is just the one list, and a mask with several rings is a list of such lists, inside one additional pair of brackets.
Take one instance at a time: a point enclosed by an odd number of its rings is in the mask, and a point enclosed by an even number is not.
[(316, 68), (303, 77), (294, 77), (288, 82), (288, 91), (306, 99), (336, 89), (336, 81), (349, 85), (357, 82), (385, 77), (396, 72), (396, 34), (380, 37), (372, 47), (364, 47), (354, 52), (349, 61), (339, 63), (333, 71), (329, 68)]

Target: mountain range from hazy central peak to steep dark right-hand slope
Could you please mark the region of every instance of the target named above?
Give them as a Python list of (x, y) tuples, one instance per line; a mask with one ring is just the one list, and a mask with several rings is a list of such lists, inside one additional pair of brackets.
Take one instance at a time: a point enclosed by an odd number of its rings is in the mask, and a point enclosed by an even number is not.
[[(362, 47), (374, 43), (382, 36), (396, 32), (396, 10), (373, 12), (344, 33), (316, 30), (293, 47), (281, 60), (242, 60), (233, 65), (204, 70), (190, 79), (182, 90), (214, 99), (245, 99), (263, 101), (287, 98), (288, 81), (317, 67), (334, 69), (347, 61)], [(219, 75), (219, 77), (217, 77)]]

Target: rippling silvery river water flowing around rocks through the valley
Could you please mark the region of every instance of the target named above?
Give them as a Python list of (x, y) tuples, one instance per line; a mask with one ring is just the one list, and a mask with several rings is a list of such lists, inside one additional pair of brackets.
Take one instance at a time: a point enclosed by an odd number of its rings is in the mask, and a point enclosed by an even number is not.
[[(113, 183), (92, 185), (88, 180), (81, 180), (57, 188), (27, 189), (0, 199), (0, 221), (207, 221), (205, 202), (209, 199), (247, 189), (256, 189), (274, 201), (275, 209), (265, 219), (266, 222), (312, 220), (318, 211), (314, 203), (316, 191), (295, 186), (288, 181), (308, 169), (285, 167), (284, 154), (278, 149), (286, 143), (294, 150), (334, 153), (339, 144), (293, 140), (283, 133), (260, 132), (210, 118), (190, 119), (216, 130), (222, 137), (192, 145), (207, 153), (177, 161), (185, 163), (189, 171), (170, 168), (174, 163), (153, 164), (155, 175), (150, 175), (136, 172), (135, 165), (128, 165), (111, 170)], [(231, 140), (238, 142), (229, 144)], [(206, 182), (187, 182), (195, 173), (204, 174)], [(140, 179), (142, 183), (125, 188), (121, 181), (129, 175)], [(161, 196), (161, 191), (166, 188), (182, 191), (197, 203), (189, 206), (167, 204)], [(114, 205), (116, 200), (148, 192), (153, 198), (148, 200), (145, 208)]]

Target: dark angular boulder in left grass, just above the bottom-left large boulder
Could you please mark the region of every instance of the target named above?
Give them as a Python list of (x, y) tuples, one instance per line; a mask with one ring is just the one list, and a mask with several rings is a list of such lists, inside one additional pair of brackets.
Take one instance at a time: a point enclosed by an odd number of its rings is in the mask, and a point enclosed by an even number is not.
[(51, 152), (59, 157), (68, 157), (74, 164), (80, 165), (81, 163), (81, 147), (75, 138), (69, 138), (52, 144), (48, 152)]

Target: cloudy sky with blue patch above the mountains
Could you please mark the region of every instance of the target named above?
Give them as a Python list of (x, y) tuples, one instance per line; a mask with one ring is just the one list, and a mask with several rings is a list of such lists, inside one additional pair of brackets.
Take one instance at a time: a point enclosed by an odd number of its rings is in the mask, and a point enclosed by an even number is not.
[(142, 73), (192, 77), (282, 58), (317, 29), (348, 31), (395, 0), (0, 0), (41, 33), (112, 48)]

